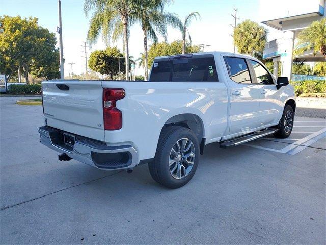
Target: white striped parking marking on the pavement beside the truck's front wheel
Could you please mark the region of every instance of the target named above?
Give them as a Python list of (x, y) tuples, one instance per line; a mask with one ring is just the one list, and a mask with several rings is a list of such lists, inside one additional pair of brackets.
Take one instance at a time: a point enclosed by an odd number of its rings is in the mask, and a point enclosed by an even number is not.
[[(297, 125), (297, 122), (300, 122), (301, 125)], [(250, 146), (252, 148), (271, 151), (271, 152), (295, 155), (295, 154), (301, 152), (302, 150), (306, 149), (307, 147), (310, 147), (310, 145), (317, 142), (318, 140), (326, 137), (326, 122), (325, 121), (300, 120), (300, 121), (295, 121), (294, 124), (295, 125), (293, 126), (293, 128), (295, 128), (298, 131), (292, 131), (292, 133), (294, 133), (298, 137), (296, 136), (295, 138), (277, 139), (277, 138), (267, 136), (265, 138), (258, 139), (258, 140), (264, 140), (265, 142), (268, 142), (268, 141), (273, 142), (274, 145), (271, 147), (261, 146), (261, 145), (251, 144), (251, 143), (245, 143), (244, 145)], [(313, 125), (308, 126), (307, 124), (313, 124)], [(320, 126), (320, 124), (323, 124), (323, 126)], [(299, 131), (299, 130), (305, 130), (305, 128), (310, 128), (310, 131)], [(312, 131), (312, 130), (316, 130), (316, 131)], [(300, 138), (301, 135), (302, 135), (302, 138)], [(275, 149), (275, 147), (276, 147), (275, 143), (280, 143), (280, 144), (286, 143), (287, 146), (285, 146), (282, 149)], [(280, 144), (278, 144), (278, 146), (280, 146)], [(323, 148), (321, 148), (321, 149), (323, 149)]]

